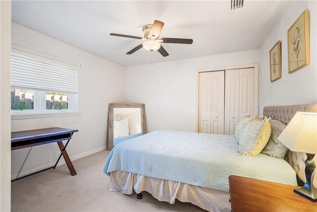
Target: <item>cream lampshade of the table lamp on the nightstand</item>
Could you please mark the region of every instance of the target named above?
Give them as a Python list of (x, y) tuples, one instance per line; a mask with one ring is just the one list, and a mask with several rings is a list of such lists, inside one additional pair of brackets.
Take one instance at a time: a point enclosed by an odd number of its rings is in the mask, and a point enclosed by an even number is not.
[(317, 154), (317, 113), (296, 112), (277, 139), (291, 151)]

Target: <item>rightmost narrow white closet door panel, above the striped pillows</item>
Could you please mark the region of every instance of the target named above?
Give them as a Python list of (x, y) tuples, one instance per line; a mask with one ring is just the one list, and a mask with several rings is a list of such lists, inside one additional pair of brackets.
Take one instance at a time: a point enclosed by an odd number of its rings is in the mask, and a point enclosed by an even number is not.
[(239, 121), (254, 116), (254, 68), (240, 69)]

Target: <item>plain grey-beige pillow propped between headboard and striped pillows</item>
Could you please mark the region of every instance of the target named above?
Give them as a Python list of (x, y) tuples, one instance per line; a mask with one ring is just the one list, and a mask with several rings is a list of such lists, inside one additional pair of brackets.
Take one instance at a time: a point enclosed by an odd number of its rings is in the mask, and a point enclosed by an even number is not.
[(277, 140), (277, 137), (282, 133), (286, 125), (278, 120), (271, 120), (270, 125), (272, 129), (271, 136), (262, 153), (284, 159), (288, 148), (281, 141)]

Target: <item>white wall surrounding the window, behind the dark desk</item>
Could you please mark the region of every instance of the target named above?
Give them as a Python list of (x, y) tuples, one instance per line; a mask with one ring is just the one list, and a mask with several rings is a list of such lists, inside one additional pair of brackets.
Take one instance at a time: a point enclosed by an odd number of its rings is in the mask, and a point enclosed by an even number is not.
[[(13, 22), (12, 44), (81, 64), (80, 116), (12, 120), (12, 132), (49, 127), (78, 129), (67, 146), (71, 159), (105, 149), (108, 103), (120, 103), (124, 98), (123, 67)], [(12, 177), (18, 173), (28, 150), (12, 151)], [(33, 147), (21, 173), (53, 165), (58, 156), (56, 143)]]

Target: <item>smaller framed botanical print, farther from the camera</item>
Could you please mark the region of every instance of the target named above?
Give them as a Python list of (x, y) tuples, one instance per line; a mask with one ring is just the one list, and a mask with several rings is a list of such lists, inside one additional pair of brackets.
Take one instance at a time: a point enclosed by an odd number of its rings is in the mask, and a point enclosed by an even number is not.
[(277, 41), (277, 43), (269, 51), (269, 71), (271, 82), (282, 77), (281, 41)]

